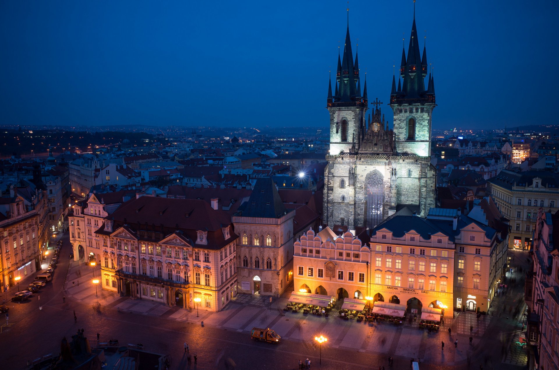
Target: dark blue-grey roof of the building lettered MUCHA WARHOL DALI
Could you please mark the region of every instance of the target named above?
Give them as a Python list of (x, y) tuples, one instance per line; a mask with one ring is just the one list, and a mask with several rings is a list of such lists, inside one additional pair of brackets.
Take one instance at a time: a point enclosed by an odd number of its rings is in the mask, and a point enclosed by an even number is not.
[(421, 238), (426, 240), (431, 239), (431, 235), (442, 233), (448, 236), (449, 241), (454, 243), (454, 238), (460, 233), (460, 229), (470, 224), (476, 224), (480, 229), (485, 230), (485, 236), (487, 236), (488, 239), (491, 239), (495, 235), (495, 229), (462, 214), (458, 217), (456, 230), (452, 230), (452, 220), (432, 220), (424, 219), (419, 216), (395, 215), (375, 227), (371, 232), (371, 236), (376, 235), (377, 231), (380, 229), (387, 229), (392, 231), (392, 234), (396, 238), (401, 238), (409, 231), (414, 230), (421, 235)]

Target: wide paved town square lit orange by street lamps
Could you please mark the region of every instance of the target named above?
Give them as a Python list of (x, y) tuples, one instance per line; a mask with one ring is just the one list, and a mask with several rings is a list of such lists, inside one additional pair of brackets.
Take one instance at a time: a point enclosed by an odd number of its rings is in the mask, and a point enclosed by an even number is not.
[[(477, 369), (481, 363), (487, 365), (485, 369), (490, 369), (491, 363), (494, 369), (521, 368), (513, 363), (501, 363), (498, 350), (501, 341), (488, 335), (506, 324), (505, 319), (492, 320), (485, 335), (475, 336), (469, 345), (469, 334), (455, 330), (450, 336), (446, 330), (429, 334), (413, 324), (372, 325), (335, 316), (284, 312), (288, 293), (274, 298), (272, 304), (269, 297), (239, 295), (221, 312), (200, 307), (197, 315), (196, 310), (132, 300), (102, 290), (96, 295), (93, 284), (87, 283), (94, 274), (91, 267), (64, 259), (69, 243), (65, 246), (53, 283), (41, 293), (42, 310), (35, 299), (10, 308), (15, 325), (0, 334), (0, 363), (8, 364), (6, 368), (19, 369), (27, 359), (58, 353), (58, 340), (62, 336), (69, 338), (78, 328), (86, 329), (89, 338), (101, 333), (102, 341), (116, 338), (121, 344), (144, 343), (149, 352), (170, 354), (173, 369), (188, 368), (183, 357), (185, 341), (190, 344), (191, 353), (198, 353), (198, 369), (222, 369), (223, 360), (231, 358), (237, 369), (285, 370), (296, 368), (298, 360), (307, 357), (312, 359), (313, 368), (349, 370), (385, 366), (388, 369), (389, 356), (394, 357), (396, 370), (408, 369), (412, 358), (422, 364), (421, 369)], [(98, 276), (98, 270), (95, 273)], [(78, 277), (80, 285), (73, 285), (72, 281), (77, 282)], [(78, 324), (74, 324), (73, 311)], [(451, 325), (451, 320), (447, 322)], [(457, 322), (454, 320), (453, 328)], [(271, 327), (285, 340), (279, 345), (254, 343), (249, 337), (253, 326)], [(505, 325), (503, 330), (506, 332), (509, 327)], [(319, 366), (320, 347), (313, 340), (316, 334), (328, 338), (322, 348), (322, 366)], [(454, 348), (456, 339), (458, 347)], [(446, 343), (444, 350), (441, 350), (442, 341)]]

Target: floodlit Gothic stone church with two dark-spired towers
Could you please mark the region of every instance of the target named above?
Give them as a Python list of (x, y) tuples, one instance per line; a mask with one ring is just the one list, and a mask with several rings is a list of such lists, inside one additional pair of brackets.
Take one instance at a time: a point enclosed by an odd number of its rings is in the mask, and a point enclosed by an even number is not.
[[(338, 55), (334, 94), (328, 84), (330, 154), (326, 156), (324, 221), (328, 226), (370, 229), (407, 206), (424, 216), (435, 206), (435, 169), (430, 165), (431, 115), (435, 107), (434, 80), (428, 73), (427, 50), (420, 53), (414, 20), (408, 54), (402, 50), (400, 77), (392, 78), (389, 129), (378, 101), (368, 109), (367, 81), (361, 93), (349, 24), (344, 53)], [(425, 88), (425, 77), (428, 77)]]

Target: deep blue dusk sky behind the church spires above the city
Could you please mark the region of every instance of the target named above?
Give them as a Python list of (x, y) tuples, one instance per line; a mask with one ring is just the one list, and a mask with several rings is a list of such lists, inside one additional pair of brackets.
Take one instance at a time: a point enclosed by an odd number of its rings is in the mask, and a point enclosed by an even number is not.
[[(0, 124), (328, 125), (328, 70), (338, 41), (343, 48), (345, 8), (3, 0)], [(369, 100), (387, 103), (413, 2), (349, 8)], [(558, 10), (556, 0), (419, 0), (418, 34), (435, 67), (433, 127), (555, 124)]]

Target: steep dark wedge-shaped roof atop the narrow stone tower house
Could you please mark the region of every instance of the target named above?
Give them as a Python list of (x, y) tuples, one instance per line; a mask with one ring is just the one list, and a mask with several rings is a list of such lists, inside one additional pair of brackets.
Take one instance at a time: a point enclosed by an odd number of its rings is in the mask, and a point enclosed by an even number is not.
[(272, 178), (263, 177), (256, 181), (248, 202), (239, 207), (236, 215), (279, 219), (287, 212)]

